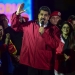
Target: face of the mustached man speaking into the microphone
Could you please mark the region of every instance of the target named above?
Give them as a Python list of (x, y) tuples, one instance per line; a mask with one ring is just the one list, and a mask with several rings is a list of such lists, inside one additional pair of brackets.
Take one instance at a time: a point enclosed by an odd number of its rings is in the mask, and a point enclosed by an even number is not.
[(44, 21), (44, 24), (48, 23), (49, 20), (49, 14), (47, 11), (41, 10), (40, 13), (38, 14), (38, 20), (41, 23)]

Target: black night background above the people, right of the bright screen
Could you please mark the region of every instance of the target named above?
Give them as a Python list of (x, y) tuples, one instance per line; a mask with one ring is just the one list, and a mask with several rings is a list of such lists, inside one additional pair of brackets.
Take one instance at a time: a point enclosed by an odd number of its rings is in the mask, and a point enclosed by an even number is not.
[(51, 12), (60, 11), (63, 20), (67, 20), (70, 15), (75, 15), (75, 0), (34, 0), (33, 19), (37, 19), (38, 10), (41, 6), (48, 6)]

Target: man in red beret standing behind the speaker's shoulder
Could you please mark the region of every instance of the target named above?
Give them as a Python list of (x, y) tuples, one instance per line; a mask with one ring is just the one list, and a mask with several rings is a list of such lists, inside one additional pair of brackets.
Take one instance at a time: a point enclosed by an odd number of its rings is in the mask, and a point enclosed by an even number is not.
[(50, 15), (50, 23), (54, 25), (56, 34), (58, 38), (60, 37), (60, 28), (59, 28), (59, 23), (61, 24), (61, 13), (59, 11), (54, 11)]

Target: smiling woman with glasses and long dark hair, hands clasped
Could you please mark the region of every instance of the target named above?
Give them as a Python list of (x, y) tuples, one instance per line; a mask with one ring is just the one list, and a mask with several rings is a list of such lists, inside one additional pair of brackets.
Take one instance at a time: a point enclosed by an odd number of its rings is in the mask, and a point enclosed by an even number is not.
[(75, 41), (70, 23), (63, 22), (59, 46), (56, 49), (55, 75), (75, 75)]

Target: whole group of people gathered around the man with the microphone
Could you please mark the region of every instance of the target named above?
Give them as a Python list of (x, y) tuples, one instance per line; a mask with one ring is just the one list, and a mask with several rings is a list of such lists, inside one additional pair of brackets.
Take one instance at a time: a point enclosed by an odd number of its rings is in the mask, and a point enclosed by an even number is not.
[(0, 75), (75, 75), (75, 16), (62, 20), (47, 6), (37, 20), (21, 16), (24, 3), (8, 18), (0, 14)]

